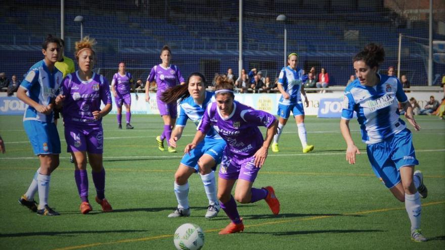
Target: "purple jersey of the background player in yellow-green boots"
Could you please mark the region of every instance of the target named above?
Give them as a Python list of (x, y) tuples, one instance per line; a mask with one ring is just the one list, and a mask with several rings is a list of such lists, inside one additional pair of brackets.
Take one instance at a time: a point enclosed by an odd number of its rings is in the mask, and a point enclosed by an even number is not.
[(147, 81), (152, 82), (156, 80), (158, 85), (157, 93), (164, 92), (167, 88), (179, 85), (184, 82), (184, 77), (181, 75), (181, 71), (176, 65), (170, 65), (168, 68), (162, 67), (162, 65), (154, 66), (150, 75), (148, 75)]

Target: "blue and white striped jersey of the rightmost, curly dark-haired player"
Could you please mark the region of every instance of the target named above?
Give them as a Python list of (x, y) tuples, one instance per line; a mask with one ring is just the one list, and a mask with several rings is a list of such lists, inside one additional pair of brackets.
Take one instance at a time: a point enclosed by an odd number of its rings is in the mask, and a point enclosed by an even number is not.
[(393, 76), (377, 74), (380, 82), (364, 86), (359, 79), (344, 90), (341, 119), (350, 120), (357, 113), (362, 130), (362, 140), (374, 144), (406, 128), (399, 118), (398, 102), (408, 102), (400, 81)]

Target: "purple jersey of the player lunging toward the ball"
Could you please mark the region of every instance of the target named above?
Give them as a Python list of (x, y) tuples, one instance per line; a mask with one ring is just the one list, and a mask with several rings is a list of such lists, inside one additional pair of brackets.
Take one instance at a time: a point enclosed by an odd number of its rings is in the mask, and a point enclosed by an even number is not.
[(253, 156), (264, 141), (258, 126), (270, 127), (277, 120), (275, 116), (241, 104), (233, 103), (233, 112), (222, 117), (216, 102), (207, 106), (207, 111), (198, 126), (206, 134), (211, 127), (227, 142), (226, 155), (238, 158)]

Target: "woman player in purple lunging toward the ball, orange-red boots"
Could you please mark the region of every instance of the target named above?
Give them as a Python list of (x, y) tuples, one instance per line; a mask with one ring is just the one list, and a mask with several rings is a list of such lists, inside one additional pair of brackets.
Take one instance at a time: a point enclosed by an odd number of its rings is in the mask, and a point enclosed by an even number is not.
[[(216, 102), (207, 106), (207, 110), (198, 126), (192, 143), (187, 144), (184, 152), (191, 154), (213, 127), (227, 142), (219, 168), (218, 199), (221, 208), (231, 219), (231, 223), (219, 234), (229, 234), (244, 230), (236, 201), (254, 203), (265, 199), (272, 213), (280, 212), (280, 202), (271, 186), (253, 188), (253, 182), (259, 169), (268, 156), (268, 149), (277, 131), (275, 116), (260, 110), (254, 110), (234, 101), (234, 86), (227, 80), (218, 78), (215, 86)], [(267, 127), (263, 139), (258, 126)], [(235, 198), (231, 195), (235, 182)]]

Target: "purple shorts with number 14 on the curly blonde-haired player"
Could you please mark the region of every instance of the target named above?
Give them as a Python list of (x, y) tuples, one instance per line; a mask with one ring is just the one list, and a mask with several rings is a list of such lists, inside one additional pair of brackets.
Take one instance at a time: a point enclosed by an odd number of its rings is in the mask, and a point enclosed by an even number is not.
[(79, 128), (65, 126), (66, 152), (88, 152), (103, 154), (104, 131), (101, 127)]

